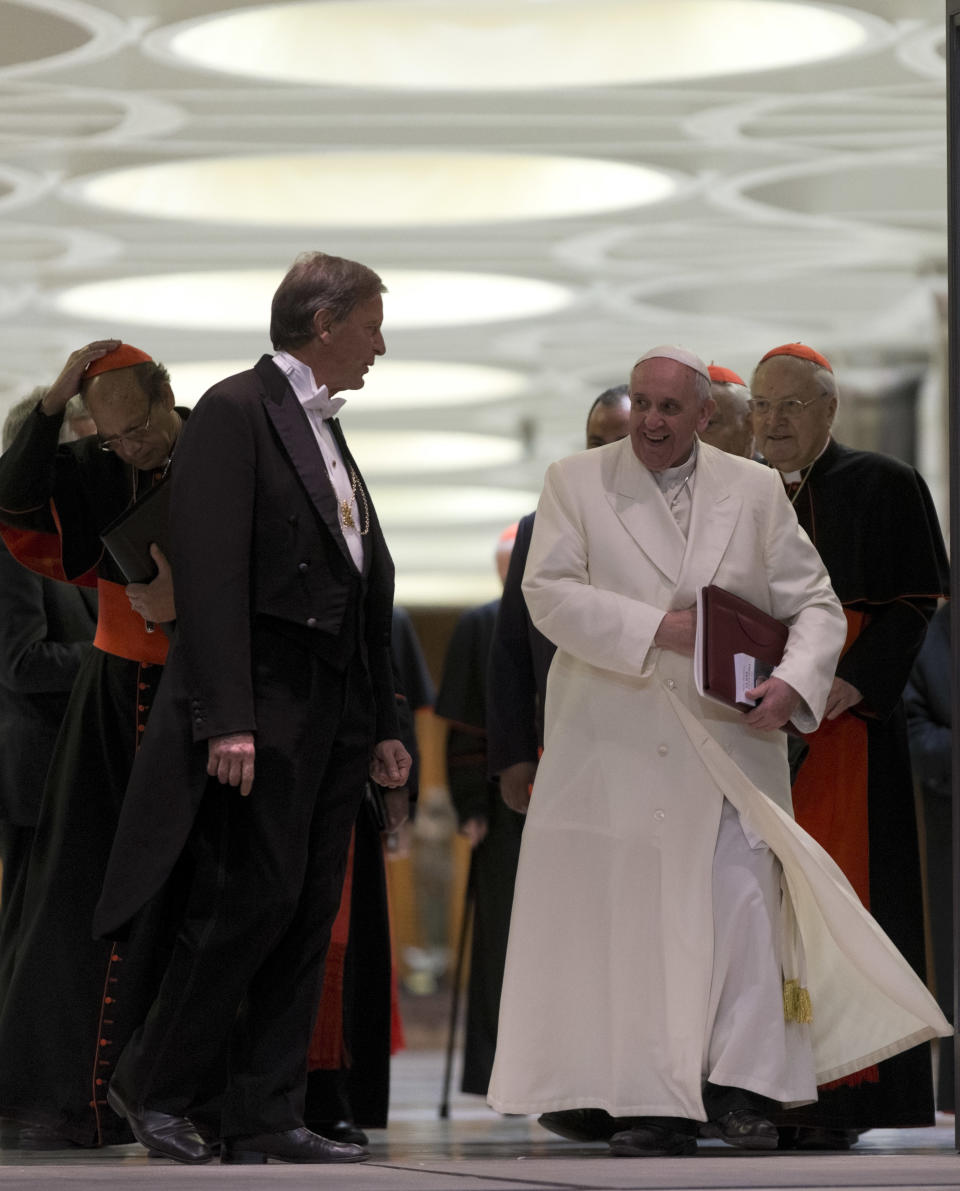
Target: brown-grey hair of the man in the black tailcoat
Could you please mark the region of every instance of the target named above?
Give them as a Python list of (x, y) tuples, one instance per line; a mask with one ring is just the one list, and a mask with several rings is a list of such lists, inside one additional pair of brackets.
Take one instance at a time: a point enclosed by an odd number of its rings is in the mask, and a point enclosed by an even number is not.
[(329, 310), (335, 323), (378, 294), (387, 292), (380, 278), (357, 261), (326, 252), (303, 252), (278, 286), (270, 305), (270, 342), (275, 351), (300, 348), (316, 331), (313, 316)]

